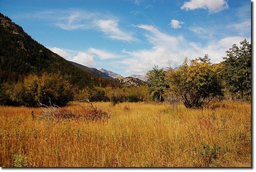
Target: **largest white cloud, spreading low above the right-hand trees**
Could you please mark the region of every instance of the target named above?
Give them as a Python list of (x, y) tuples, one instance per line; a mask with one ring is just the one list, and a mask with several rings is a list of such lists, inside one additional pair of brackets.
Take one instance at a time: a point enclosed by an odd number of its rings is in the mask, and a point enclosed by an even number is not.
[[(136, 26), (146, 30), (145, 37), (153, 45), (150, 49), (142, 49), (136, 51), (126, 51), (128, 58), (119, 61), (121, 67), (125, 67), (126, 73), (145, 74), (147, 70), (152, 70), (154, 64), (159, 68), (167, 67), (168, 60), (172, 67), (176, 64), (180, 65), (185, 56), (189, 59), (196, 57), (203, 57), (208, 54), (212, 63), (219, 63), (223, 61), (222, 57), (226, 56), (226, 52), (233, 44), (240, 45), (239, 42), (244, 38), (223, 37), (221, 39), (214, 39), (208, 43), (201, 44), (199, 42), (189, 42), (182, 36), (173, 37), (169, 34), (162, 33), (154, 26), (139, 25)], [(198, 29), (200, 30), (200, 29)]]

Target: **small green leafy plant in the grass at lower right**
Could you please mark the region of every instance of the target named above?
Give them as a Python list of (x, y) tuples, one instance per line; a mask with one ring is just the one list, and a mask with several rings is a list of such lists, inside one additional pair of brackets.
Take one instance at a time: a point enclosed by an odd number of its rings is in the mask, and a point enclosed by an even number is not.
[(205, 161), (207, 164), (212, 162), (218, 162), (218, 154), (220, 152), (221, 147), (216, 146), (216, 144), (212, 147), (207, 143), (202, 142), (202, 149), (199, 151), (200, 158)]

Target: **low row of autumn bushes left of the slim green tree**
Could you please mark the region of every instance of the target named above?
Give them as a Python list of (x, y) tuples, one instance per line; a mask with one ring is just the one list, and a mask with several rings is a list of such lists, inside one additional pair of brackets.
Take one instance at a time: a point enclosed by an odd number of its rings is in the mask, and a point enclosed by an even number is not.
[(119, 102), (146, 101), (148, 95), (147, 86), (87, 86), (79, 89), (60, 73), (29, 74), (20, 77), (16, 84), (0, 84), (0, 105), (37, 106), (42, 103), (65, 106), (73, 100), (110, 101), (115, 105)]

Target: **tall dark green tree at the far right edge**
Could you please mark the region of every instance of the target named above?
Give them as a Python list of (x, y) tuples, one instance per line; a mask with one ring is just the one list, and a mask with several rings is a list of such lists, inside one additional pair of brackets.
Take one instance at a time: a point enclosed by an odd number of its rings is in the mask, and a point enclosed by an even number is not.
[(238, 99), (251, 95), (251, 44), (244, 39), (240, 42), (241, 47), (236, 44), (226, 51), (223, 76), (227, 84), (227, 89), (236, 93)]

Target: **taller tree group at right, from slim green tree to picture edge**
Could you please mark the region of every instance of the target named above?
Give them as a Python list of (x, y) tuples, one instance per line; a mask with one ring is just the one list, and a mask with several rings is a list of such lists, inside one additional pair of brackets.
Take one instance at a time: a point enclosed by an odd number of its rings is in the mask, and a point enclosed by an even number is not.
[(227, 57), (219, 64), (211, 64), (208, 54), (188, 61), (185, 57), (178, 70), (147, 72), (147, 85), (151, 98), (179, 103), (189, 109), (200, 109), (218, 97), (251, 101), (251, 44), (244, 39), (226, 51)]

